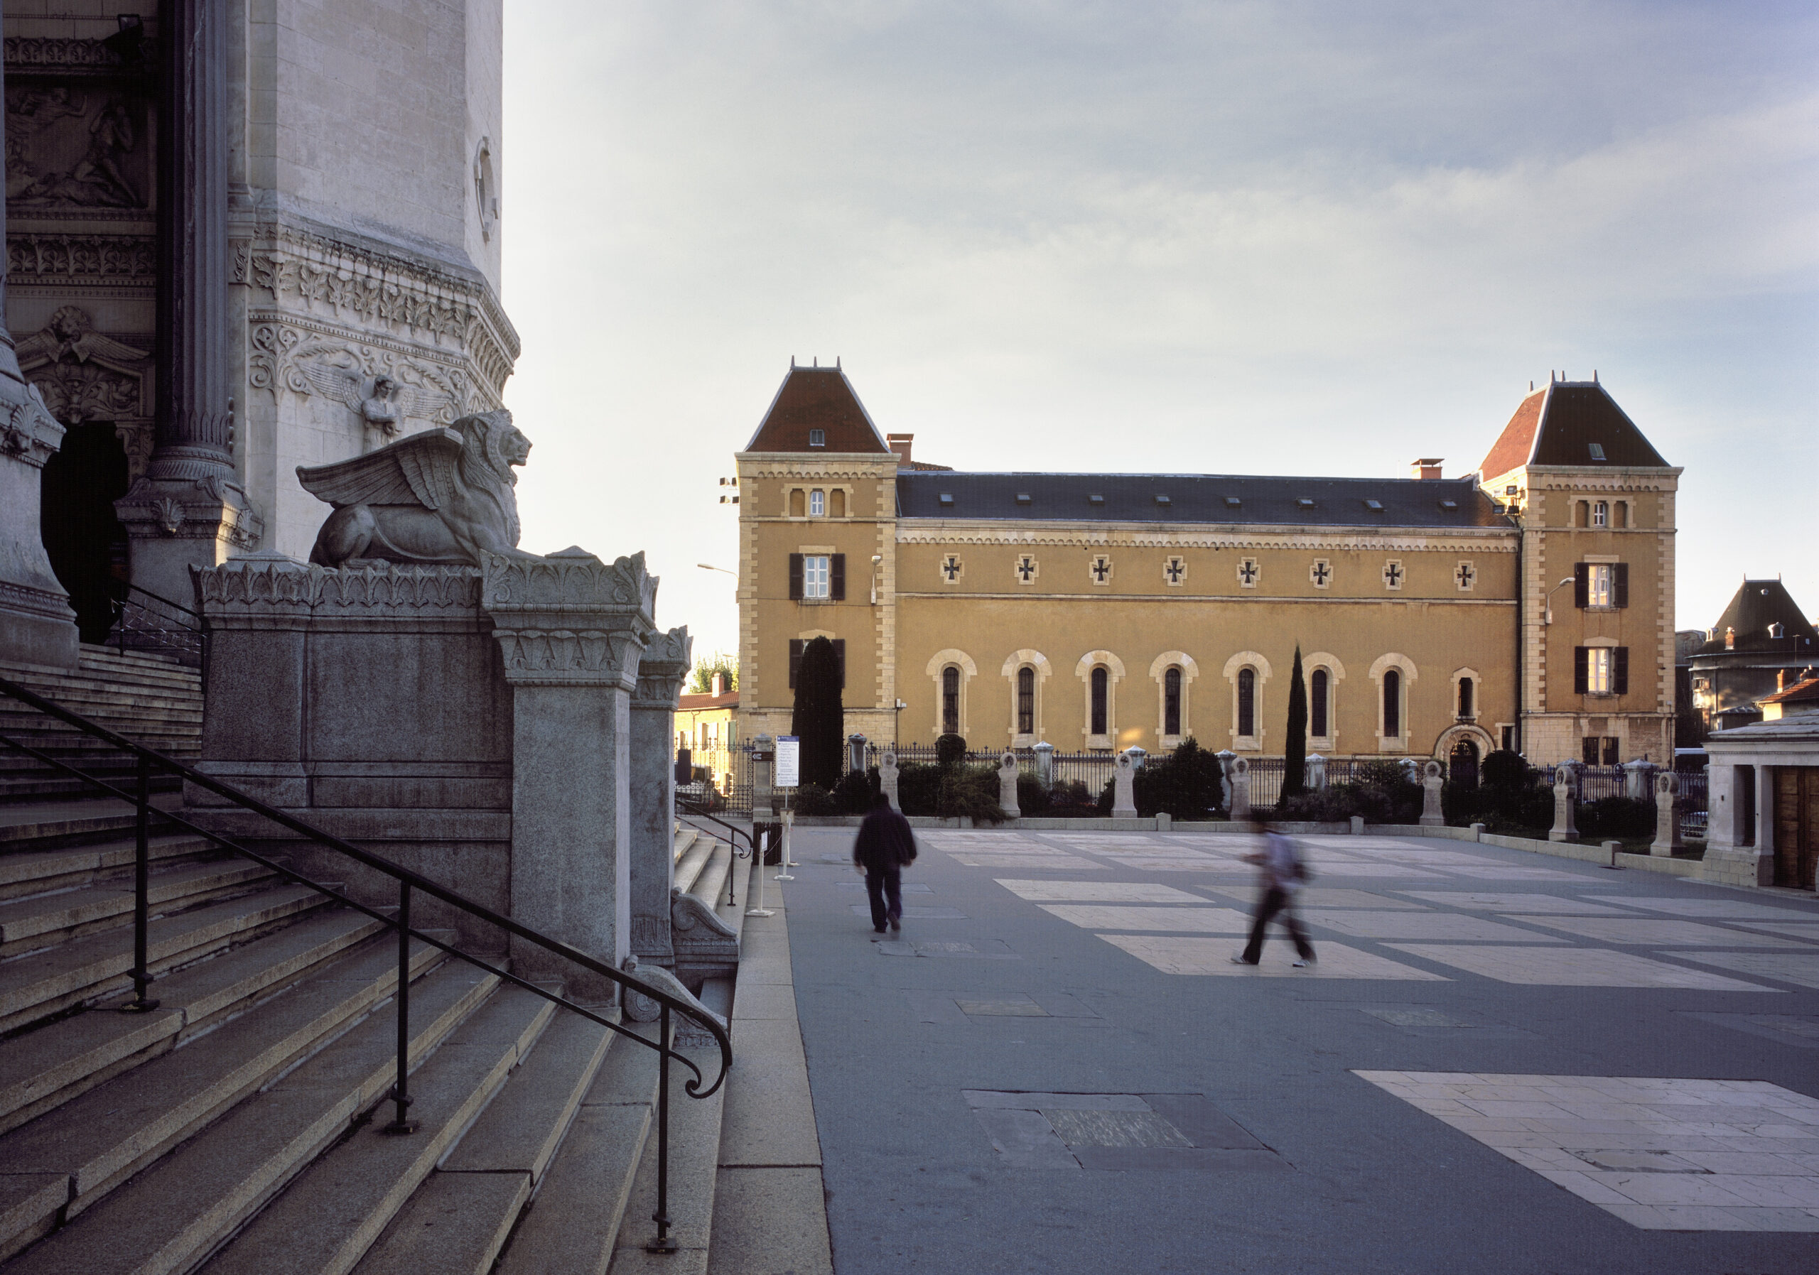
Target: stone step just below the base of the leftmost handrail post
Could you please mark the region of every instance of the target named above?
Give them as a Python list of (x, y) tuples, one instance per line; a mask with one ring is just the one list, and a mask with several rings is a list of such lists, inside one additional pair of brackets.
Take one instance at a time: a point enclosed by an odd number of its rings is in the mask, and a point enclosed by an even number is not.
[[(189, 1042), (380, 929), (382, 922), (347, 908), (320, 911), (260, 942), (166, 975), (156, 984), (158, 1008), (149, 1013), (120, 1013), (116, 1006), (126, 997), (116, 997), (7, 1040), (0, 1051), (0, 1133)], [(386, 951), (395, 962), (391, 940)], [(382, 995), (391, 995), (389, 979), (382, 969)], [(229, 1028), (246, 1029), (240, 1024), (249, 1017), (242, 1015)], [(186, 1055), (189, 1062), (198, 1057)]]

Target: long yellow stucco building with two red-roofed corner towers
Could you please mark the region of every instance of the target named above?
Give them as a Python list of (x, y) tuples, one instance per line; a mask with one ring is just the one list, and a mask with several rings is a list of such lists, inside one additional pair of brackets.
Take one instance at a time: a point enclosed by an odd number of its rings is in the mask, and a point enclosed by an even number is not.
[(1281, 755), (1299, 644), (1326, 757), (1672, 757), (1681, 471), (1595, 380), (1464, 478), (966, 473), (791, 366), (737, 466), (742, 738), (828, 637), (871, 740)]

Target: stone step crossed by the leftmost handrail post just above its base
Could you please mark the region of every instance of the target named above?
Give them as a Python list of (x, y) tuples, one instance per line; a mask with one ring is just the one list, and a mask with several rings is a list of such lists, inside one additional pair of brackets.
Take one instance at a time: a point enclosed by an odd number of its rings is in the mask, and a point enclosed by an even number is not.
[[(293, 917), (331, 900), (307, 886), (273, 886), (227, 902), (206, 904), (147, 928), (146, 962), (153, 975), (249, 942)], [(0, 1031), (13, 1031), (47, 1019), (84, 1000), (106, 997), (131, 984), (133, 931), (107, 929), (71, 939), (0, 964)], [(153, 991), (156, 995), (156, 991)]]

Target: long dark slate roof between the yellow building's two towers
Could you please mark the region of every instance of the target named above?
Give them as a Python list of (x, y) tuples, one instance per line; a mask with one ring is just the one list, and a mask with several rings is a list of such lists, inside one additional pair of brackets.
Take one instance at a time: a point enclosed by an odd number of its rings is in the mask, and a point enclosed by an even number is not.
[[(944, 504), (944, 495), (953, 500)], [(1099, 497), (1097, 504), (1093, 497)], [(1381, 507), (1373, 509), (1366, 502)], [(1448, 502), (1452, 507), (1446, 507)], [(1208, 473), (899, 469), (897, 517), (1432, 529), (1510, 526), (1473, 478), (1264, 478)]]

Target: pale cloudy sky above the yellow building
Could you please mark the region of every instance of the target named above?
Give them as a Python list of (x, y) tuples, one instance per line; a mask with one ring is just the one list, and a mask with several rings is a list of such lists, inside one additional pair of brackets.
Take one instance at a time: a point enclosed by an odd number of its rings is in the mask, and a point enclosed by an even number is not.
[(513, 0), (524, 547), (737, 649), (791, 356), (960, 469), (1475, 471), (1590, 378), (1683, 466), (1679, 627), (1819, 615), (1819, 7)]

